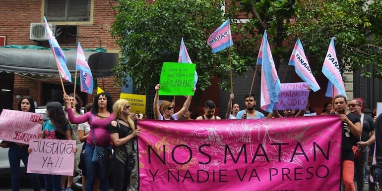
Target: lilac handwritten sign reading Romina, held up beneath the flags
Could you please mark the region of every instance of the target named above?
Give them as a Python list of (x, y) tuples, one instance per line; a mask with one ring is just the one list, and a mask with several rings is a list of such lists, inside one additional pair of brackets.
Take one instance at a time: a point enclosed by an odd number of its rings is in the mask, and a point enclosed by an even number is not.
[(307, 82), (281, 84), (278, 102), (274, 104), (274, 109), (306, 109), (309, 97), (308, 86)]

